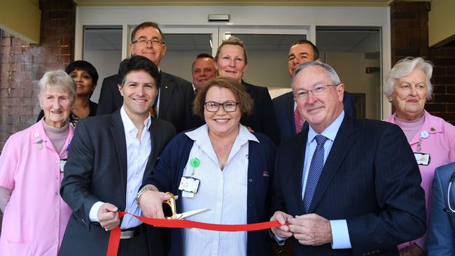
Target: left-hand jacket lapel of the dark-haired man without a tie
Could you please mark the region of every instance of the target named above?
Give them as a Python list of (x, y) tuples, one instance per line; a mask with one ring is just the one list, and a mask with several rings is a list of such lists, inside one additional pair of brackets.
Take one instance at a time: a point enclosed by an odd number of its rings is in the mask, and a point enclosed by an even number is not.
[[(111, 134), (117, 152), (118, 162), (120, 163), (120, 183), (123, 191), (127, 191), (127, 143), (125, 138), (125, 129), (123, 127), (122, 118), (120, 117), (120, 109), (111, 115)], [(126, 200), (126, 198), (125, 198)]]

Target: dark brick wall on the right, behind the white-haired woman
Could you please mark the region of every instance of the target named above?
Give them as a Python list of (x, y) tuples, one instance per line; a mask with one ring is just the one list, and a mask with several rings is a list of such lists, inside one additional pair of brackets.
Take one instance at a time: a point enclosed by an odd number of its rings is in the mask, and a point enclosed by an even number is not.
[(428, 2), (391, 3), (392, 65), (407, 57), (433, 62), (433, 97), (425, 109), (455, 125), (455, 43), (428, 48)]

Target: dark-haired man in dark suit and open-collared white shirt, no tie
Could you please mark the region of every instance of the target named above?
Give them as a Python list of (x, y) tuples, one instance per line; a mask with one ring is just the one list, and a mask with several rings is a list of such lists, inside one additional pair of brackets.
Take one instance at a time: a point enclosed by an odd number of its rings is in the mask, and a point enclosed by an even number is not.
[(169, 122), (151, 118), (158, 68), (133, 56), (120, 63), (123, 106), (111, 115), (85, 118), (71, 141), (60, 194), (73, 209), (59, 255), (106, 255), (109, 230), (120, 225), (119, 255), (167, 255), (164, 230), (144, 225), (136, 194), (175, 135)]

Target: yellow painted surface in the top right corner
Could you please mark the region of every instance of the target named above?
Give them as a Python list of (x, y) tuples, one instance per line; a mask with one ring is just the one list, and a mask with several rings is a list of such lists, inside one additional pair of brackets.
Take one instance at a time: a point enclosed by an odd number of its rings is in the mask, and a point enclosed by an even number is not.
[(455, 38), (455, 1), (433, 0), (428, 13), (428, 44), (440, 46)]

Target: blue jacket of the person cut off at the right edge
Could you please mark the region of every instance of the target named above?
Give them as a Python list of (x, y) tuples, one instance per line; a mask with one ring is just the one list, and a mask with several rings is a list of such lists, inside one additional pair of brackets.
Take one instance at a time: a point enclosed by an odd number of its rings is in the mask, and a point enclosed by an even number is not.
[[(428, 256), (449, 256), (455, 254), (455, 213), (447, 213), (447, 190), (455, 173), (455, 162), (436, 168), (431, 195), (430, 225), (426, 239)], [(450, 189), (450, 206), (455, 208), (455, 184)]]

